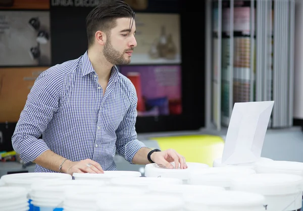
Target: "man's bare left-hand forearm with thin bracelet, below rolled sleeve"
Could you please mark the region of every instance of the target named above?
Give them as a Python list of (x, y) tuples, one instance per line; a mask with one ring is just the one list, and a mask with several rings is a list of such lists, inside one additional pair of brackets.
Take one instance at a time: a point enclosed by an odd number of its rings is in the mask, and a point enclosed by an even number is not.
[[(59, 172), (59, 167), (64, 160), (65, 160), (65, 157), (60, 156), (51, 150), (46, 150), (34, 160), (34, 163), (38, 164), (39, 166), (42, 166), (46, 169)], [(71, 162), (71, 161), (64, 162), (64, 165), (62, 166), (62, 169), (61, 169), (62, 172), (64, 172), (64, 173), (67, 172), (67, 169), (65, 169), (65, 167), (68, 166), (67, 164), (69, 162)]]

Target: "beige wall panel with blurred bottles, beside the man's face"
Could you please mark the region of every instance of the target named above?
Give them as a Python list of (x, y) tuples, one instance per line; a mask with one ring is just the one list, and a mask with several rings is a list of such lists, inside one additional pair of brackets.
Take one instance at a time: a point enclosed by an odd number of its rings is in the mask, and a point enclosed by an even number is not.
[(180, 16), (136, 13), (137, 46), (130, 65), (180, 64)]

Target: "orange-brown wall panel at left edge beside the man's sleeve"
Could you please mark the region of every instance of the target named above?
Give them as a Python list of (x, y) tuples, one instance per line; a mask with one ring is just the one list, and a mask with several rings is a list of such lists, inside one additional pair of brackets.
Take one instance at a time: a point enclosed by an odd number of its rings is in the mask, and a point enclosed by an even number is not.
[(31, 87), (47, 68), (0, 68), (0, 123), (19, 120)]

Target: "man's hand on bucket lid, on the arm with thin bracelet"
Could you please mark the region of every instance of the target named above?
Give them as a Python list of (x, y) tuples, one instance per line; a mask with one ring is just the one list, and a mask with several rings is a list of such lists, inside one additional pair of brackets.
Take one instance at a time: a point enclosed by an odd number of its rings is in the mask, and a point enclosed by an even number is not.
[(79, 162), (67, 160), (62, 166), (62, 171), (70, 175), (73, 175), (73, 173), (104, 174), (102, 167), (90, 159)]

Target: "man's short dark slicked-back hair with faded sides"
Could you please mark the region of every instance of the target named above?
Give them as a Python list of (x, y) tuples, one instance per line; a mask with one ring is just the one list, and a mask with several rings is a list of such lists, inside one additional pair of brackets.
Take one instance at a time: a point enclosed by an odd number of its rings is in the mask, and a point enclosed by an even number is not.
[[(100, 3), (86, 17), (86, 33), (88, 39), (88, 47), (93, 44), (96, 31), (101, 30), (109, 32), (116, 27), (116, 19), (133, 18), (134, 11), (122, 0), (105, 1)], [(130, 24), (132, 28), (133, 21)]]

